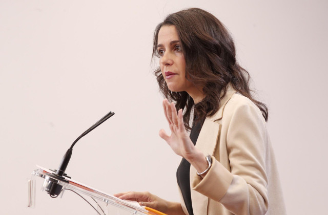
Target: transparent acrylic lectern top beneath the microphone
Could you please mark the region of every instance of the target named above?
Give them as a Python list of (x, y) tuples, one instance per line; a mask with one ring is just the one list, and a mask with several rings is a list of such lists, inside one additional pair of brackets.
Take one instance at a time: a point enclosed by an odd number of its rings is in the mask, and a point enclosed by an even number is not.
[[(78, 196), (81, 197), (81, 201), (86, 200), (89, 204), (90, 202), (95, 203), (93, 206), (95, 209), (95, 214), (108, 215), (108, 214), (117, 214), (117, 215), (128, 215), (128, 214), (148, 214), (148, 215), (161, 215), (157, 210), (154, 210), (149, 207), (141, 207), (137, 202), (126, 201), (118, 199), (114, 196), (108, 195), (104, 192), (96, 190), (94, 188), (88, 187), (79, 182), (73, 181), (67, 177), (58, 178), (54, 175), (54, 171), (39, 167), (35, 169), (32, 173), (31, 179), (28, 180), (28, 205), (27, 207), (35, 207), (35, 184), (36, 177), (44, 179), (42, 186), (43, 191), (48, 191), (47, 188), (49, 184), (55, 184), (61, 190), (59, 190), (58, 197), (63, 197), (66, 190), (75, 192)], [(58, 186), (59, 185), (59, 186)], [(84, 199), (84, 200), (83, 200)], [(86, 202), (86, 204), (87, 204)]]

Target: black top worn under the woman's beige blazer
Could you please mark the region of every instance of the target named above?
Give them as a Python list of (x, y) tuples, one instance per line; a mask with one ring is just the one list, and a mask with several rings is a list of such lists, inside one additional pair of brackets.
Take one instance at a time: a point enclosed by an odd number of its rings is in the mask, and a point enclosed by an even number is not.
[[(198, 122), (194, 122), (190, 132), (190, 139), (196, 145), (200, 129), (204, 123), (205, 119), (202, 119)], [(191, 203), (191, 194), (190, 194), (190, 163), (182, 158), (181, 163), (176, 170), (176, 180), (181, 189), (183, 200), (185, 201), (189, 215), (193, 215), (193, 206)]]

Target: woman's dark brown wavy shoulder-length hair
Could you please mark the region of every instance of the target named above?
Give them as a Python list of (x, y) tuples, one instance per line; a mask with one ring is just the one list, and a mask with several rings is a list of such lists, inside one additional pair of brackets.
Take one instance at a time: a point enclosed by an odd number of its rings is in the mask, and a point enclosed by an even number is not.
[[(168, 15), (158, 24), (154, 32), (153, 57), (157, 53), (157, 37), (162, 26), (174, 25), (178, 32), (182, 53), (186, 60), (186, 78), (195, 86), (201, 86), (206, 97), (194, 110), (195, 119), (214, 115), (222, 97), (227, 93), (230, 83), (241, 95), (252, 100), (261, 110), (265, 121), (268, 120), (267, 106), (257, 101), (250, 90), (249, 73), (236, 61), (234, 41), (224, 25), (211, 13), (199, 8), (181, 10)], [(190, 130), (190, 119), (194, 107), (191, 96), (183, 92), (172, 92), (161, 73), (155, 69), (160, 92), (169, 101), (175, 101), (177, 110), (183, 109), (185, 126)]]

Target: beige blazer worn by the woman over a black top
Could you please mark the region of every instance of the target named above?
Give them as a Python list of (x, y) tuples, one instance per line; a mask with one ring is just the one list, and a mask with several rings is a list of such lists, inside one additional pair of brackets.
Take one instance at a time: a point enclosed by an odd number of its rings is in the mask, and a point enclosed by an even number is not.
[[(190, 167), (195, 215), (286, 213), (265, 120), (250, 99), (228, 88), (218, 112), (204, 121), (196, 147), (213, 156), (213, 165), (204, 178)], [(181, 190), (180, 196), (188, 214)]]

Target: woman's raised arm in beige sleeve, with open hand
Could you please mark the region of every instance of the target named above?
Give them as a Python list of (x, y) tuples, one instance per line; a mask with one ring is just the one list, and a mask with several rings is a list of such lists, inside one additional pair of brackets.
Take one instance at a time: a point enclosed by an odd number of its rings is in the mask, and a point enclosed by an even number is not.
[[(185, 130), (182, 111), (177, 114), (174, 104), (167, 100), (163, 101), (163, 108), (172, 134), (169, 136), (161, 130), (160, 137), (200, 173), (208, 164)], [(213, 157), (212, 167), (206, 175), (195, 176), (192, 188), (219, 201), (234, 214), (265, 214), (269, 202), (265, 171), (267, 134), (263, 117), (251, 101), (241, 102), (233, 110), (227, 106), (225, 111), (230, 112), (230, 118), (226, 116), (229, 121), (224, 121), (226, 126), (229, 124), (224, 143), (231, 172)]]

